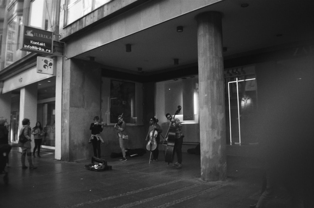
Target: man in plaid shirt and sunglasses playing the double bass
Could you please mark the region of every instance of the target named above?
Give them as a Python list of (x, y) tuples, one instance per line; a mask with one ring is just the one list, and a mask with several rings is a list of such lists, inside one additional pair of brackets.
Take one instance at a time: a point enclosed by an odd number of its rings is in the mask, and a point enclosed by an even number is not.
[(176, 151), (178, 161), (173, 164), (176, 168), (182, 167), (182, 143), (183, 143), (183, 132), (182, 132), (182, 124), (181, 121), (177, 118), (173, 119), (172, 116), (167, 113), (166, 117), (170, 120), (170, 125), (172, 125), (176, 129), (176, 136), (175, 136), (175, 144), (173, 151)]

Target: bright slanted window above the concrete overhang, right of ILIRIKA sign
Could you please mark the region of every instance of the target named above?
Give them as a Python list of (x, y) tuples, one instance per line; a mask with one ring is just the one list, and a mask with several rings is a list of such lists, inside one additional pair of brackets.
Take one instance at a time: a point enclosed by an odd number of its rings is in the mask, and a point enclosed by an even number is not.
[(111, 0), (69, 0), (67, 24), (74, 22), (110, 1)]

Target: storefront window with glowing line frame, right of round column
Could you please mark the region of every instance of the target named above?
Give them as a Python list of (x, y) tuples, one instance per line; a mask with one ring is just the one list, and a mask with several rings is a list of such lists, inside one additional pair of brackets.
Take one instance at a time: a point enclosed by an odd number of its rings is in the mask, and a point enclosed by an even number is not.
[(225, 70), (227, 143), (252, 143), (252, 124), (257, 111), (255, 67)]

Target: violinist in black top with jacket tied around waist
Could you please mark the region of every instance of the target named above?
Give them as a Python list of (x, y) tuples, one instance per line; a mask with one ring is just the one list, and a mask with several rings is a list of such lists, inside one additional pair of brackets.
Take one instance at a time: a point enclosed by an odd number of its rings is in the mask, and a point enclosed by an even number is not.
[(94, 117), (94, 122), (90, 124), (89, 130), (91, 130), (92, 135), (89, 138), (89, 144), (93, 144), (94, 156), (100, 158), (100, 145), (104, 143), (104, 140), (100, 136), (104, 125), (106, 123), (99, 122), (99, 116)]

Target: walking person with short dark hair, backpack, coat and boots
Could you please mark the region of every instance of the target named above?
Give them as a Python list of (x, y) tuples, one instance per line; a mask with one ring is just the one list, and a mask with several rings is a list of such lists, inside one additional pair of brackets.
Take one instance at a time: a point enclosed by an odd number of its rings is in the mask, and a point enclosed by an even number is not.
[(21, 136), (22, 134), (24, 135), (24, 137), (27, 139), (27, 141), (25, 143), (21, 143), (20, 141), (18, 142), (19, 147), (21, 147), (22, 149), (22, 155), (21, 155), (21, 162), (22, 162), (22, 169), (27, 169), (28, 167), (25, 165), (25, 156), (27, 156), (27, 161), (30, 165), (30, 169), (36, 169), (37, 167), (35, 167), (33, 165), (32, 162), (32, 151), (31, 151), (31, 139), (30, 139), (30, 132), (31, 132), (31, 128), (30, 128), (30, 120), (27, 118), (24, 118), (22, 120), (22, 125), (23, 127), (21, 128), (20, 132), (19, 132), (19, 136)]

